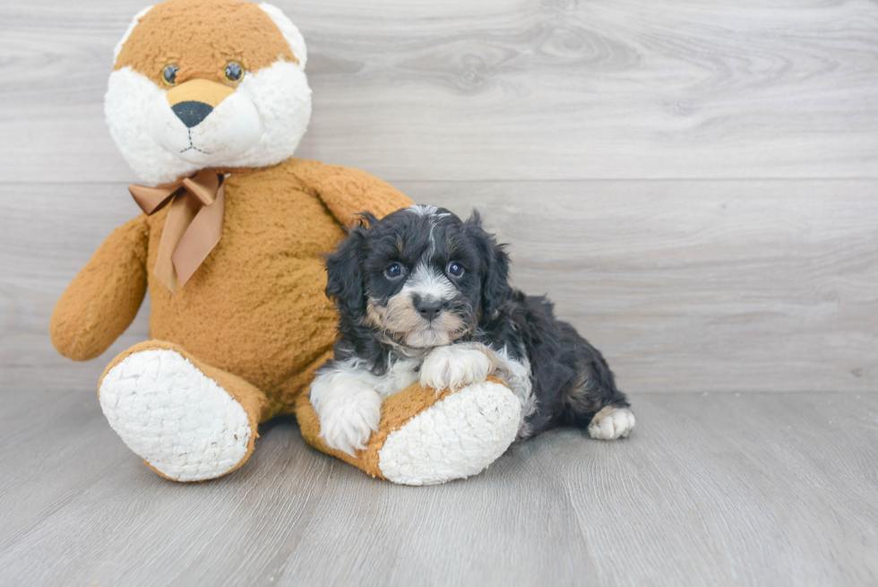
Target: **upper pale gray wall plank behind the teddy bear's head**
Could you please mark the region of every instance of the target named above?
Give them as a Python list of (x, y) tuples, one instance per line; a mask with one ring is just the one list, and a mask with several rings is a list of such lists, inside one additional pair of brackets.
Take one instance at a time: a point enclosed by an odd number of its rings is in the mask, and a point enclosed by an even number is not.
[[(142, 0), (0, 4), (0, 181), (130, 181), (103, 122)], [(401, 179), (878, 177), (878, 4), (278, 0), (307, 158)]]

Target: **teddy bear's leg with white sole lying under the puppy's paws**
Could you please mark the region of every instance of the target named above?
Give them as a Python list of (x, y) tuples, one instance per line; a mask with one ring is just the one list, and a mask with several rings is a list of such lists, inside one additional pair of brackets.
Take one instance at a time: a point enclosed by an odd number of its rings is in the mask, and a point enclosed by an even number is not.
[(302, 436), (323, 453), (403, 485), (435, 485), (485, 470), (503, 454), (521, 423), (521, 401), (495, 379), (455, 393), (414, 384), (384, 400), (381, 424), (366, 449), (350, 456), (323, 444), (307, 395), (297, 401)]

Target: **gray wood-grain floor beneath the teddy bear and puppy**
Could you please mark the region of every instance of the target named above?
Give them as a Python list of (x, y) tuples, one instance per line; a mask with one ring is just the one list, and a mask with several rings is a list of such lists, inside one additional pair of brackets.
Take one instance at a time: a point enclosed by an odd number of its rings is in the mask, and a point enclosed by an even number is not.
[(439, 487), (370, 479), (286, 420), (242, 470), (184, 485), (128, 452), (96, 398), (11, 393), (0, 583), (878, 582), (878, 395), (633, 404), (628, 440), (557, 430)]

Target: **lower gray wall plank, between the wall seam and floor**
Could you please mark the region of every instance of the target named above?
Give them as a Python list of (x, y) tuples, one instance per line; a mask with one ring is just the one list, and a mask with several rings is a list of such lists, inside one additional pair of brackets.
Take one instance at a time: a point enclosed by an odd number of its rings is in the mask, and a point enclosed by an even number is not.
[[(512, 281), (547, 293), (627, 391), (876, 391), (878, 181), (397, 186), (464, 216), (480, 209), (510, 243)], [(137, 209), (123, 185), (16, 191), (0, 231), (0, 389), (93, 390), (148, 336), (148, 309), (76, 365), (52, 348), (48, 317)]]

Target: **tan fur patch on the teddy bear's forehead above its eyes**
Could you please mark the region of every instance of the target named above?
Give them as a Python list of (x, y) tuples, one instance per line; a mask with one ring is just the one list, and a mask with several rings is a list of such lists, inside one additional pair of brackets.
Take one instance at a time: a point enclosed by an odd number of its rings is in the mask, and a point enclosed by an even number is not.
[(257, 5), (238, 0), (168, 0), (153, 6), (131, 31), (115, 69), (132, 67), (163, 86), (161, 71), (176, 64), (176, 82), (226, 84), (235, 61), (255, 73), (278, 60), (299, 63), (287, 39)]

